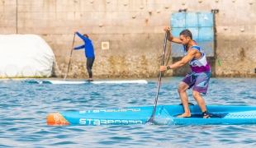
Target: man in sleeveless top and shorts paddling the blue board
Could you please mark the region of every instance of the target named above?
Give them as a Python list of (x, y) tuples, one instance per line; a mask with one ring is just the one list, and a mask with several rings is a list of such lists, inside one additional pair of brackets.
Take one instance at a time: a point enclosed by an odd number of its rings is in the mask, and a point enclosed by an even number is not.
[(179, 38), (173, 37), (168, 26), (164, 27), (164, 30), (168, 31), (167, 39), (169, 41), (177, 44), (183, 44), (185, 56), (182, 60), (175, 62), (172, 65), (160, 66), (160, 71), (182, 67), (187, 62), (192, 69), (192, 71), (188, 72), (187, 75), (183, 78), (183, 81), (181, 81), (181, 83), (178, 85), (178, 94), (182, 100), (184, 109), (184, 113), (178, 115), (178, 117), (191, 117), (191, 113), (188, 107), (188, 97), (186, 90), (193, 86), (192, 95), (201, 108), (202, 116), (203, 118), (209, 118), (205, 101), (200, 95), (200, 93), (206, 94), (211, 76), (211, 68), (206, 60), (206, 54), (201, 51), (197, 42), (192, 40), (192, 33), (190, 30), (183, 30), (180, 33)]

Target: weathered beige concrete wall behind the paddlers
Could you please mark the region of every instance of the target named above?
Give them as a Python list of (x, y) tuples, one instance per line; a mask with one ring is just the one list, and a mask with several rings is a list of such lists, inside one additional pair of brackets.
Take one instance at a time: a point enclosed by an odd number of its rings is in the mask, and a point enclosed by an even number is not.
[[(0, 0), (0, 32), (40, 35), (55, 53), (55, 75), (59, 77), (67, 72), (75, 30), (92, 39), (94, 77), (151, 77), (159, 74), (163, 28), (170, 25), (172, 12), (218, 9), (216, 56), (210, 59), (213, 76), (251, 77), (256, 67), (255, 1)], [(104, 41), (109, 41), (110, 49), (102, 50)], [(74, 46), (81, 44), (76, 36)], [(168, 42), (165, 64), (177, 61), (170, 50)], [(87, 78), (85, 62), (83, 50), (73, 51), (68, 77)], [(186, 70), (183, 67), (165, 76)]]

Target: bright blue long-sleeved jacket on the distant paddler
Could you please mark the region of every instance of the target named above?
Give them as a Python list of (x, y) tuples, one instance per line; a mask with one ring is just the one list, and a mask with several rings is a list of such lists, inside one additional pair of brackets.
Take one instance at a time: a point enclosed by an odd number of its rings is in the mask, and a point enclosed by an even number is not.
[(78, 47), (73, 48), (73, 49), (77, 50), (77, 49), (83, 49), (84, 48), (84, 54), (85, 54), (86, 58), (95, 58), (94, 49), (93, 49), (93, 45), (92, 45), (92, 40), (84, 37), (83, 35), (81, 35), (78, 32), (77, 32), (77, 35), (81, 39), (83, 39), (84, 44), (82, 46), (78, 46)]

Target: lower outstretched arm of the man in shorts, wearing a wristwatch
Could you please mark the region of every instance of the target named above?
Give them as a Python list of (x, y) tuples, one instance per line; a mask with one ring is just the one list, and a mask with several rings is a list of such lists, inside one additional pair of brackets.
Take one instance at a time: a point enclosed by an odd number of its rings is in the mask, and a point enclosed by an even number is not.
[[(182, 60), (173, 63), (172, 65), (170, 65), (170, 69), (175, 69), (178, 67), (182, 67), (184, 64), (186, 64), (187, 62), (190, 62), (192, 60), (192, 58), (194, 58), (197, 54), (197, 50), (196, 49), (191, 49), (188, 51), (187, 55), (185, 57), (183, 57)], [(160, 66), (160, 71), (166, 71), (168, 66)]]

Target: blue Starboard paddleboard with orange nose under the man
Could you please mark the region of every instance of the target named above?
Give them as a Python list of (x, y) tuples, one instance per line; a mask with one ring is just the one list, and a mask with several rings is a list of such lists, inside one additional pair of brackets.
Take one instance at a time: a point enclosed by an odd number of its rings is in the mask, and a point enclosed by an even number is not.
[[(202, 118), (198, 105), (189, 106), (190, 118), (178, 118), (183, 113), (182, 105), (158, 105), (154, 124), (256, 124), (256, 106), (207, 105), (211, 118)], [(151, 117), (154, 106), (126, 107), (120, 109), (88, 109), (50, 113), (49, 125), (107, 125), (107, 124), (145, 124)]]

